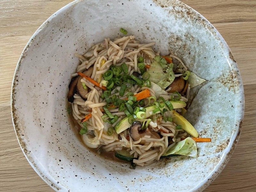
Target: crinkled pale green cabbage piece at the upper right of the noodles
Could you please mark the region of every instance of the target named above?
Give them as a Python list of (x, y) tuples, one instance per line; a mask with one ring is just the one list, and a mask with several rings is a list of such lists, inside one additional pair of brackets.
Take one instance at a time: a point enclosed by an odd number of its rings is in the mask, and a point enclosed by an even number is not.
[(148, 69), (149, 80), (158, 84), (163, 90), (174, 81), (173, 63), (167, 64), (161, 56), (156, 56)]

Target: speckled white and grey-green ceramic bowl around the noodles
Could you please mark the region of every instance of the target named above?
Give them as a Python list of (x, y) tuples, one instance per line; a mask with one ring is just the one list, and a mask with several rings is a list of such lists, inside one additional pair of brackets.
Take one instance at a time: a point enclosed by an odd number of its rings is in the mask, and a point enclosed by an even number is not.
[[(66, 95), (78, 65), (74, 53), (114, 38), (119, 28), (162, 54), (182, 58), (207, 80), (191, 90), (187, 119), (210, 143), (196, 158), (176, 156), (135, 170), (95, 155), (70, 128)], [(218, 31), (176, 0), (75, 1), (53, 14), (31, 37), (12, 86), (12, 117), (31, 166), (56, 191), (202, 191), (222, 171), (236, 146), (244, 91), (236, 61)]]

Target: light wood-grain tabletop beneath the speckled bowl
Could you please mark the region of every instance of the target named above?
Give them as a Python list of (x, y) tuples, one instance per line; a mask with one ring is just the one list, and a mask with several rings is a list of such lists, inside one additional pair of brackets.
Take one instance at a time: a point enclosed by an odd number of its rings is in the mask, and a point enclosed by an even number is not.
[[(0, 0), (0, 191), (52, 192), (23, 155), (12, 125), (12, 77), (36, 29), (69, 0)], [(242, 133), (228, 165), (204, 191), (256, 191), (256, 1), (183, 0), (224, 37), (238, 63), (245, 95)]]

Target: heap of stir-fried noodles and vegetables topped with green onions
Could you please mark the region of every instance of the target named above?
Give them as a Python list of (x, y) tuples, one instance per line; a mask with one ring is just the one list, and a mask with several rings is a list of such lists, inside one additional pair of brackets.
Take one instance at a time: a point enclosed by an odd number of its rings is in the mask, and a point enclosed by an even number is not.
[[(72, 116), (81, 126), (84, 144), (97, 149), (99, 153), (113, 152), (113, 156), (130, 161), (133, 168), (134, 164), (145, 166), (174, 154), (196, 156), (195, 151), (182, 154), (179, 149), (174, 149), (181, 140), (186, 145), (184, 139), (190, 136), (187, 122), (184, 124), (187, 120), (177, 120), (178, 113), (184, 115), (186, 112), (185, 102), (188, 101), (190, 90), (190, 84), (186, 81), (189, 71), (175, 55), (166, 56), (165, 59), (160, 57), (160, 52), (154, 51), (154, 45), (142, 44), (135, 40), (135, 36), (118, 36), (114, 40), (105, 38), (103, 42), (92, 44), (84, 55), (75, 54), (81, 62), (76, 71), (84, 72), (96, 83), (74, 73), (69, 85), (68, 100), (71, 102)], [(177, 61), (174, 65), (170, 64), (172, 58)], [(153, 68), (159, 69), (161, 65), (167, 81), (172, 79), (167, 87), (165, 81), (163, 85), (150, 80), (154, 79), (156, 73)], [(171, 65), (173, 67), (170, 69), (168, 66)], [(166, 75), (168, 70), (171, 70), (171, 75)], [(176, 79), (183, 85), (177, 85)], [(177, 90), (173, 89), (175, 86), (178, 86), (177, 89), (183, 87)], [(149, 95), (138, 100), (144, 92)], [(86, 119), (85, 123), (81, 123), (83, 118)], [(182, 125), (177, 125), (177, 122)], [(198, 137), (198, 133), (195, 134)], [(196, 144), (193, 145), (193, 150), (196, 150)]]

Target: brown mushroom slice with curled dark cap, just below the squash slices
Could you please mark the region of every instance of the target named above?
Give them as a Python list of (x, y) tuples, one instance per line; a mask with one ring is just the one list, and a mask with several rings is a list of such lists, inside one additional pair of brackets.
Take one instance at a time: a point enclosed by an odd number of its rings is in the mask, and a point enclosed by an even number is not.
[(136, 141), (145, 135), (150, 135), (151, 138), (160, 139), (160, 136), (157, 132), (151, 131), (149, 127), (147, 127), (145, 130), (141, 130), (141, 122), (134, 121), (130, 127), (130, 136), (132, 137), (132, 139)]

